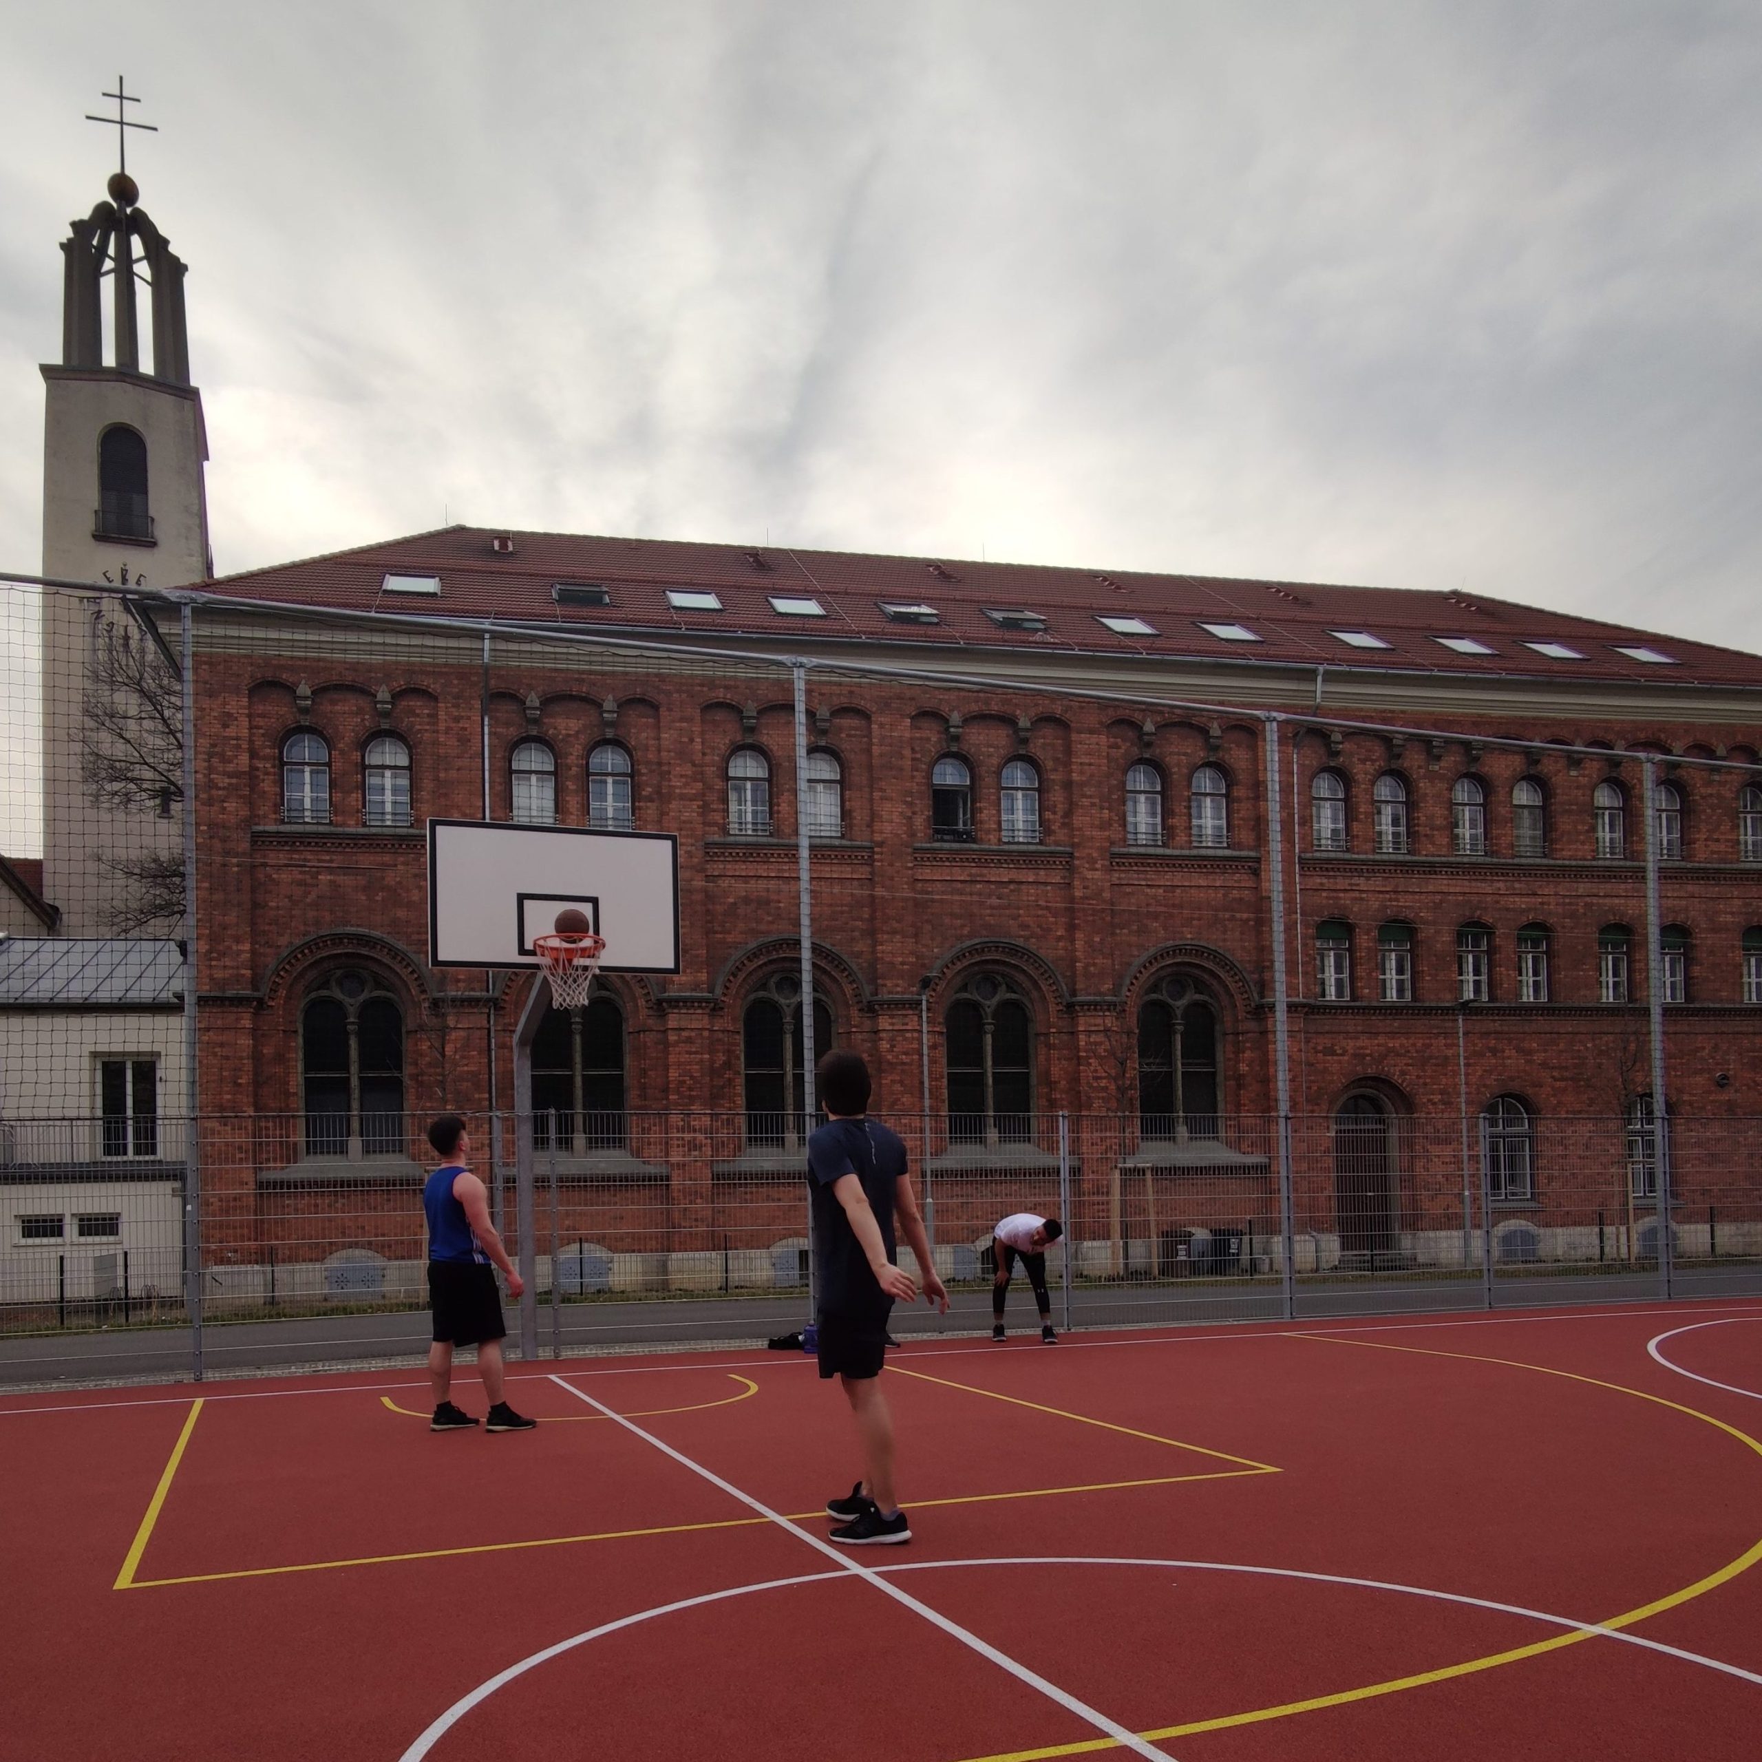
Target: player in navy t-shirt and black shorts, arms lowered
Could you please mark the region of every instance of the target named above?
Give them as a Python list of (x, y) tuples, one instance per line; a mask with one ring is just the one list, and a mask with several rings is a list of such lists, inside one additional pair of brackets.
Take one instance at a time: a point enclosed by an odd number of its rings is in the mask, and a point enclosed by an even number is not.
[(909, 1542), (911, 1526), (893, 1498), (893, 1415), (877, 1381), (886, 1357), (886, 1322), (895, 1300), (918, 1286), (893, 1265), (893, 1225), (918, 1256), (925, 1302), (948, 1309), (948, 1292), (930, 1260), (930, 1239), (906, 1173), (899, 1133), (869, 1119), (869, 1066), (855, 1052), (828, 1052), (814, 1070), (828, 1122), (807, 1140), (807, 1184), (814, 1214), (819, 1374), (837, 1376), (856, 1418), (867, 1473), (848, 1499), (826, 1512), (848, 1522), (833, 1542)]

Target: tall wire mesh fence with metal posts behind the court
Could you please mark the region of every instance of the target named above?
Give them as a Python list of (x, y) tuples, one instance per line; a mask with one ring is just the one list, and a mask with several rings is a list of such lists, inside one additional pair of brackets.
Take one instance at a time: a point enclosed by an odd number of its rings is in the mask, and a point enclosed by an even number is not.
[[(566, 587), (555, 629), (5, 589), (0, 1376), (421, 1350), (439, 1112), (525, 1351), (791, 1332), (828, 1045), (955, 1295), (897, 1330), (988, 1327), (1022, 1209), (1075, 1327), (1757, 1288), (1750, 749), (615, 638)], [(559, 1011), (432, 962), (448, 818), (671, 833), (678, 971)]]

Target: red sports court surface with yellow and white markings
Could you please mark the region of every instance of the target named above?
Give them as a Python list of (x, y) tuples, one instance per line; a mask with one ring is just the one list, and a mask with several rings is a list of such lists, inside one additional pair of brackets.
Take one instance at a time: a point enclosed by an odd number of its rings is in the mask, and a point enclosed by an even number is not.
[(1762, 1753), (1762, 1304), (548, 1369), (0, 1403), (5, 1753)]

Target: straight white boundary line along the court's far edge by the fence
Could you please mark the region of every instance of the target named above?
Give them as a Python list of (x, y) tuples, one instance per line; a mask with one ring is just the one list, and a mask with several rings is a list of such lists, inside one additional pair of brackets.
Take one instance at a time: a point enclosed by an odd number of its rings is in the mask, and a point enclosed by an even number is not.
[[(1623, 1316), (1676, 1316), (1676, 1314), (1702, 1314), (1707, 1309), (1734, 1309), (1739, 1307), (1744, 1299), (1734, 1302), (1716, 1302), (1709, 1299), (1681, 1299), (1674, 1304), (1647, 1304), (1644, 1309), (1598, 1309), (1598, 1307), (1579, 1307), (1579, 1309), (1545, 1309), (1545, 1311), (1524, 1311), (1524, 1313), (1505, 1313), (1498, 1311), (1494, 1314), (1475, 1314), (1452, 1318), (1448, 1322), (1373, 1322), (1364, 1327), (1348, 1327), (1341, 1322), (1318, 1322), (1313, 1316), (1306, 1316), (1300, 1323), (1281, 1322), (1279, 1318), (1262, 1320), (1253, 1318), (1246, 1322), (1209, 1322), (1203, 1323), (1203, 1332), (1198, 1334), (1158, 1334), (1151, 1329), (1142, 1334), (1135, 1332), (1131, 1339), (1080, 1339), (1071, 1334), (1061, 1336), (1061, 1351), (1112, 1351), (1121, 1346), (1188, 1346), (1188, 1344), (1218, 1344), (1218, 1343), (1237, 1343), (1246, 1339), (1293, 1339), (1307, 1337), (1311, 1334), (1336, 1336), (1336, 1334), (1410, 1334), (1425, 1332), (1431, 1329), (1455, 1329), (1455, 1327), (1524, 1327), (1533, 1322), (1612, 1322)], [(1750, 1299), (1748, 1302), (1755, 1302)], [(1436, 1311), (1420, 1311), (1422, 1314), (1436, 1314)], [(1741, 1307), (1737, 1314), (1730, 1316), (1732, 1322), (1744, 1322), (1762, 1316), (1762, 1307)], [(1191, 1325), (1191, 1323), (1189, 1323)], [(1105, 1332), (1105, 1330), (1103, 1330)], [(1681, 1332), (1681, 1330), (1677, 1330)], [(923, 1343), (929, 1351), (923, 1351), (925, 1359), (996, 1359), (997, 1348), (994, 1344), (985, 1346), (948, 1346), (936, 1350), (934, 1343), (939, 1336), (911, 1336), (911, 1343)], [(1669, 1336), (1660, 1336), (1669, 1337)], [(569, 1362), (569, 1360), (553, 1360)], [(571, 1376), (663, 1376), (675, 1371), (751, 1371), (751, 1369), (775, 1369), (786, 1371), (791, 1366), (807, 1366), (812, 1360), (802, 1353), (766, 1353), (763, 1359), (715, 1359), (705, 1353), (705, 1357), (692, 1364), (620, 1364), (610, 1366), (603, 1371), (589, 1369), (571, 1369)], [(312, 1374), (312, 1373), (301, 1373)], [(358, 1376), (358, 1371), (333, 1371), (333, 1376)], [(550, 1371), (530, 1371), (509, 1367), (509, 1381), (537, 1381), (539, 1378), (550, 1376)], [(1683, 1373), (1688, 1374), (1686, 1371)], [(361, 1390), (381, 1390), (381, 1388), (426, 1388), (426, 1380), (418, 1378), (400, 1383), (328, 1383), (324, 1388), (252, 1388), (240, 1394), (220, 1396), (208, 1394), (211, 1385), (208, 1383), (185, 1383), (183, 1388), (201, 1388), (204, 1401), (275, 1401), (285, 1399), (289, 1396), (349, 1396), (359, 1394)], [(1746, 1390), (1741, 1390), (1746, 1392)], [(63, 1401), (49, 1408), (0, 1408), (0, 1418), (19, 1418), (28, 1413), (92, 1413), (100, 1408), (183, 1408), (189, 1406), (189, 1394), (181, 1396), (141, 1396), (132, 1401)]]

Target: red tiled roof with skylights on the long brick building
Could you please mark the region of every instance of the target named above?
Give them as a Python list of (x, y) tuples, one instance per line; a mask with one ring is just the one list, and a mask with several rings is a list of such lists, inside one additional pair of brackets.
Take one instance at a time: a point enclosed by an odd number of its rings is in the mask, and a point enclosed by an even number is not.
[[(492, 541), (511, 539), (511, 552)], [(382, 592), (388, 573), (437, 574), (439, 597)], [(594, 583), (608, 606), (559, 606), (552, 585)], [(1043, 564), (870, 557), (786, 546), (687, 544), (569, 532), (502, 534), (446, 527), (363, 544), (301, 562), (226, 576), (215, 592), (315, 608), (437, 613), (465, 618), (553, 622), (573, 629), (652, 634), (759, 636), (775, 648), (805, 641), (888, 641), (936, 647), (1084, 650), (1099, 655), (1158, 655), (1373, 668), (1468, 677), (1526, 675), (1545, 680), (1596, 678), (1762, 689), (1762, 657), (1709, 643), (1545, 611), (1485, 594), (1440, 594), (1311, 581), (1244, 581), (1223, 576), (1059, 569)], [(668, 589), (708, 589), (721, 611), (682, 611)], [(812, 597), (825, 618), (777, 613), (772, 594)], [(925, 603), (937, 624), (895, 624), (883, 601)], [(1043, 631), (999, 627), (987, 610), (1031, 610)], [(1152, 636), (1121, 636), (1101, 617), (1144, 618)], [(1260, 641), (1226, 641), (1205, 622), (1242, 624)], [(1359, 648), (1334, 631), (1366, 631), (1383, 648)], [(1492, 650), (1457, 654), (1438, 638), (1468, 636)], [(1551, 641), (1582, 659), (1536, 654)], [(1651, 648), (1676, 664), (1621, 654)]]

